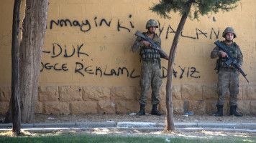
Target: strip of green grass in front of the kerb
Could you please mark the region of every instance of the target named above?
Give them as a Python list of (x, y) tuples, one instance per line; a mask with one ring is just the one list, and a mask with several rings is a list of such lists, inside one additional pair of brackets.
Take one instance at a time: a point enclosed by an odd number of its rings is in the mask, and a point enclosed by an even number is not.
[(164, 142), (166, 138), (170, 140), (170, 143), (180, 143), (180, 142), (189, 142), (189, 143), (198, 143), (198, 142), (234, 142), (234, 143), (240, 143), (240, 142), (256, 142), (256, 137), (221, 137), (218, 138), (210, 138), (207, 139), (206, 137), (196, 137), (196, 138), (188, 138), (188, 137), (168, 137), (165, 134), (162, 134), (161, 136), (155, 137), (154, 134), (140, 134), (140, 135), (124, 135), (124, 134), (80, 134), (80, 133), (50, 133), (50, 134), (29, 134), (26, 133), (21, 137), (10, 137), (10, 133), (0, 134), (0, 142), (1, 143), (74, 143), (74, 142), (132, 142), (132, 143), (147, 143), (147, 142)]

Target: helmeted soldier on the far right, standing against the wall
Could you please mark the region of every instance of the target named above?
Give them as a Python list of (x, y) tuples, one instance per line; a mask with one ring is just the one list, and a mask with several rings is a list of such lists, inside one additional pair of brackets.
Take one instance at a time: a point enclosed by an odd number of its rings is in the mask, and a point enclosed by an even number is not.
[[(225, 38), (225, 41), (221, 41), (221, 44), (230, 51), (232, 56), (239, 66), (242, 66), (243, 56), (239, 46), (233, 42), (233, 39), (237, 37), (234, 33), (234, 29), (232, 27), (227, 27), (222, 36)], [(239, 71), (235, 68), (234, 64), (225, 64), (227, 61), (227, 54), (222, 51), (218, 46), (216, 46), (213, 51), (211, 51), (211, 59), (219, 57), (216, 65), (216, 68), (219, 69), (219, 77), (218, 77), (218, 102), (216, 104), (217, 112), (214, 114), (216, 117), (223, 116), (223, 107), (225, 104), (225, 94), (227, 89), (229, 89), (230, 97), (229, 97), (229, 106), (230, 112), (229, 115), (233, 115), (236, 117), (242, 117), (242, 114), (237, 113), (237, 94), (239, 93)], [(219, 68), (218, 68), (219, 67)]]

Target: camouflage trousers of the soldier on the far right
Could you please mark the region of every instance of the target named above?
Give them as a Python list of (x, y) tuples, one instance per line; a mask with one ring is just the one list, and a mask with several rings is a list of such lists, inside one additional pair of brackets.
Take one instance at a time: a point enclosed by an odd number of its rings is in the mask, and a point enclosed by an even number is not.
[(218, 103), (225, 104), (225, 95), (229, 89), (229, 105), (237, 105), (237, 94), (239, 93), (239, 71), (237, 69), (221, 68), (219, 69), (219, 82), (217, 87)]

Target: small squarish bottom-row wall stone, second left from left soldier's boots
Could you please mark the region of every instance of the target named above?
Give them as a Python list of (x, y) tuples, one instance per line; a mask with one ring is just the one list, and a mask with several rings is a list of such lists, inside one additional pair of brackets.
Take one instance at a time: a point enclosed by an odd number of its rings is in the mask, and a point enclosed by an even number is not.
[(98, 113), (115, 114), (116, 104), (114, 102), (99, 101), (97, 106)]

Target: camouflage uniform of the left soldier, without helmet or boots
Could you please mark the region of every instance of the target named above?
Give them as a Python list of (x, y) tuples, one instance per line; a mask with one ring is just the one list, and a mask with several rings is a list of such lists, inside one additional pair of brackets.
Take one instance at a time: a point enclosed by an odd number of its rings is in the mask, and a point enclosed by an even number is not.
[[(142, 33), (147, 36), (147, 33)], [(145, 47), (142, 43), (142, 38), (137, 37), (134, 45), (132, 46), (132, 51), (140, 50), (140, 59), (142, 60), (141, 65), (141, 79), (140, 79), (140, 87), (141, 87), (141, 95), (139, 99), (140, 104), (147, 104), (147, 91), (150, 89), (150, 85), (152, 88), (152, 104), (159, 104), (160, 96), (159, 90), (162, 84), (162, 78), (160, 75), (160, 54), (157, 50), (152, 49), (150, 47)], [(155, 44), (158, 46), (161, 45), (161, 39), (157, 34), (155, 34), (153, 40)]]

